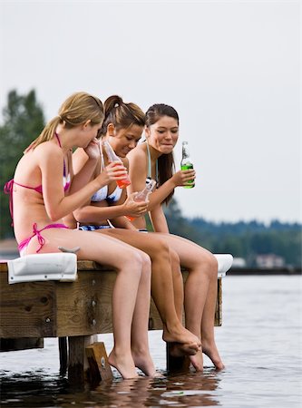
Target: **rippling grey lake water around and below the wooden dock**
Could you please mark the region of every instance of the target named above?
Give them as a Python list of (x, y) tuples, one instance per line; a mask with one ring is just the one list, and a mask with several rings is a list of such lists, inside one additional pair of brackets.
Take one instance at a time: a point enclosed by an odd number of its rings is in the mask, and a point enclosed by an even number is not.
[[(140, 377), (71, 389), (60, 377), (56, 339), (44, 349), (0, 354), (2, 407), (302, 407), (302, 277), (223, 279), (223, 325), (216, 327), (226, 369), (205, 357), (203, 374), (168, 375), (161, 332), (150, 332), (161, 379)], [(112, 335), (100, 335), (107, 350)]]

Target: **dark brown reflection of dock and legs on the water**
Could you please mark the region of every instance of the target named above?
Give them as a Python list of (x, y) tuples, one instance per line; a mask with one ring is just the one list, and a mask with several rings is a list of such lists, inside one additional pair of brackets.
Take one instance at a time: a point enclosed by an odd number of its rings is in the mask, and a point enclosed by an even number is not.
[[(163, 373), (164, 374), (164, 373)], [(219, 378), (213, 369), (203, 374), (177, 374), (151, 379), (115, 378), (94, 389), (72, 389), (65, 379), (41, 374), (14, 375), (3, 380), (1, 406), (10, 407), (155, 407), (214, 406)]]

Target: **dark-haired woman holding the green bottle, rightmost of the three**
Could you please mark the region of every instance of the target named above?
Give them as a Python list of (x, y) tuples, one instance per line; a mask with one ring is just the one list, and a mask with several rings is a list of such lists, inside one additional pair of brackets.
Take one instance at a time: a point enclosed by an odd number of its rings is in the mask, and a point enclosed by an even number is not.
[[(147, 178), (157, 180), (148, 210), (154, 233), (160, 235), (180, 257), (180, 265), (189, 271), (184, 288), (186, 327), (201, 340), (202, 352), (218, 369), (224, 368), (214, 338), (218, 264), (206, 249), (169, 233), (162, 205), (168, 204), (174, 189), (195, 179), (194, 170), (174, 170), (173, 149), (179, 139), (179, 115), (169, 105), (154, 104), (146, 112), (146, 141), (129, 155), (129, 192), (141, 190)], [(136, 228), (146, 228), (145, 219), (135, 219)], [(153, 235), (152, 233), (150, 234)], [(197, 371), (203, 369), (202, 352), (190, 356)]]

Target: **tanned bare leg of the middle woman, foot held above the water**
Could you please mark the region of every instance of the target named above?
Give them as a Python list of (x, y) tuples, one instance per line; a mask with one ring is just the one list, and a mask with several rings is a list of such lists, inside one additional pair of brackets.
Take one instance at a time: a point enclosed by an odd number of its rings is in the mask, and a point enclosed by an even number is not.
[[(151, 295), (163, 323), (163, 339), (166, 342), (180, 343), (185, 352), (190, 355), (196, 354), (200, 349), (200, 339), (183, 327), (175, 310), (171, 255), (168, 245), (164, 240), (142, 232), (121, 228), (101, 229), (100, 231), (141, 249), (151, 257)], [(179, 285), (182, 287), (182, 282), (179, 281)], [(179, 293), (181, 290), (180, 288)], [(182, 302), (181, 299), (180, 302)]]

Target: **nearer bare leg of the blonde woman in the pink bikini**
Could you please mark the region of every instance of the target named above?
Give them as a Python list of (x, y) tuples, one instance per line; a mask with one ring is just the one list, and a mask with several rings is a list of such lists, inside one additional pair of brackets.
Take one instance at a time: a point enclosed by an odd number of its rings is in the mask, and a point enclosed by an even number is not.
[[(52, 228), (43, 231), (46, 240), (41, 252), (58, 252), (58, 247), (80, 247), (79, 259), (91, 259), (110, 265), (117, 271), (112, 293), (112, 323), (114, 346), (109, 355), (112, 364), (123, 378), (137, 376), (132, 359), (131, 331), (132, 317), (141, 281), (141, 254), (135, 248), (118, 239), (104, 237), (93, 231)], [(27, 254), (38, 248), (33, 238)], [(118, 254), (118, 256), (117, 256)]]

